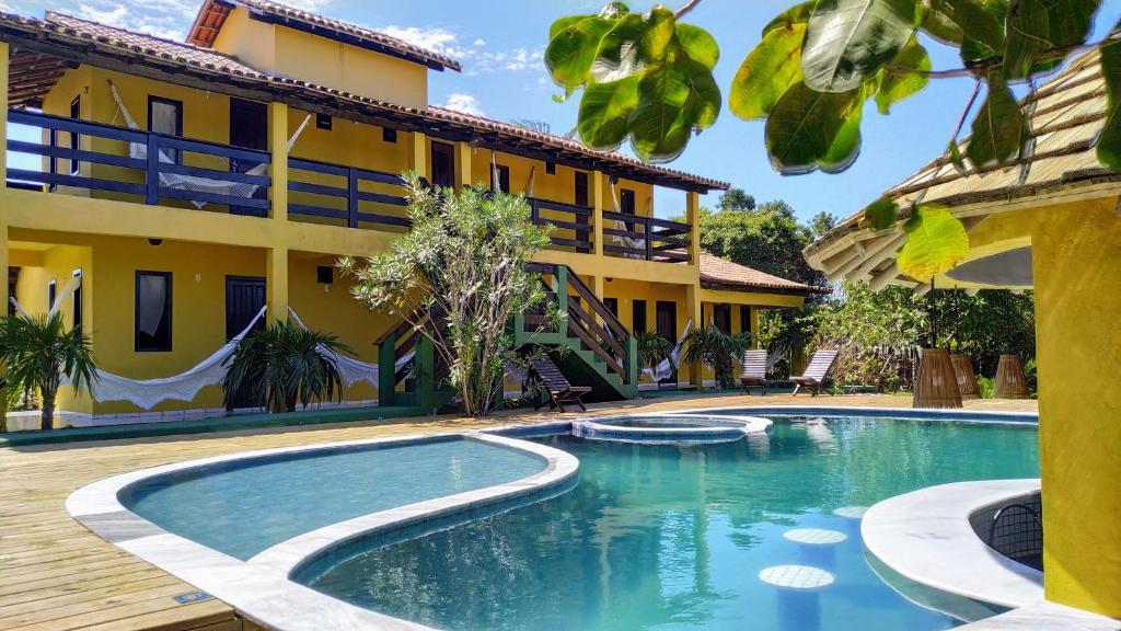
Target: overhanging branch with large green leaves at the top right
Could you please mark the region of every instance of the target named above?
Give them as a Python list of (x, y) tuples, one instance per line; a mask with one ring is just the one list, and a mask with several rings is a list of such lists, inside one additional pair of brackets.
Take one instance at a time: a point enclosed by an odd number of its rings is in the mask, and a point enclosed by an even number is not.
[[(666, 162), (715, 122), (717, 45), (704, 29), (683, 21), (700, 1), (676, 13), (655, 6), (642, 15), (613, 2), (597, 15), (553, 24), (545, 62), (564, 98), (583, 89), (577, 130), (585, 144), (613, 149), (629, 140), (640, 158)], [(949, 134), (948, 156), (963, 173), (991, 170), (1022, 162), (1031, 150), (1030, 117), (1012, 86), (1034, 90), (1071, 55), (1100, 47), (1109, 110), (1096, 152), (1104, 166), (1121, 168), (1121, 35), (1114, 29), (1105, 42), (1087, 44), (1101, 3), (800, 2), (763, 27), (735, 72), (728, 104), (739, 118), (766, 121), (767, 153), (779, 173), (836, 173), (860, 154), (869, 100), (887, 115), (932, 79), (971, 77), (976, 90)], [(932, 67), (924, 43), (956, 48), (961, 67)], [(972, 136), (960, 140), (971, 116)], [(865, 223), (878, 228), (897, 221), (889, 203), (878, 202), (868, 212)], [(924, 216), (911, 213), (912, 228)]]

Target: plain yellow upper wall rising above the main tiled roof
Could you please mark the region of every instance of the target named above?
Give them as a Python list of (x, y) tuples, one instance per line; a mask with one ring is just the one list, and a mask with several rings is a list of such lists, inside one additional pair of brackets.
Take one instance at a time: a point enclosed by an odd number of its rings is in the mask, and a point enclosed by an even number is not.
[(428, 68), (358, 46), (249, 19), (235, 8), (214, 49), (259, 70), (408, 108), (428, 106)]

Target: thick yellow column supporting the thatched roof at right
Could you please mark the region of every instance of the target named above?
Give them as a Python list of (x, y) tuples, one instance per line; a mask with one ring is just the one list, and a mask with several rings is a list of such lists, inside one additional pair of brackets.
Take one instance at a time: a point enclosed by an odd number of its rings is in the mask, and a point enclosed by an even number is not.
[(1105, 198), (1034, 214), (1044, 595), (1121, 618), (1121, 217)]

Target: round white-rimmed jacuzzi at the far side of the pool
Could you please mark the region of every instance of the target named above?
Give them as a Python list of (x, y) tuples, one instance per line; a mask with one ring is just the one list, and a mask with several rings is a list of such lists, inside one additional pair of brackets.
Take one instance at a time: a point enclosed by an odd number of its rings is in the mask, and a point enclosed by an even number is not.
[(591, 440), (621, 442), (730, 442), (767, 431), (771, 422), (759, 417), (667, 414), (586, 419), (572, 423), (572, 433)]

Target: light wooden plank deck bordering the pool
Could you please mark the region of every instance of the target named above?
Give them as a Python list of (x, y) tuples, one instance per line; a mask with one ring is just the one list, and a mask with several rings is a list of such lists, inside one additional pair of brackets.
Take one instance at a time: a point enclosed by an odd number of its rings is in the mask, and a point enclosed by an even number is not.
[[(780, 404), (909, 406), (898, 396), (692, 396), (593, 405), (589, 414)], [(974, 401), (972, 410), (1036, 411), (1035, 401)], [(74, 521), (64, 502), (91, 482), (235, 451), (442, 432), (573, 418), (502, 413), (484, 422), (442, 417), (0, 449), (0, 630), (242, 631), (256, 629), (216, 600), (179, 604), (194, 588), (119, 550)]]

